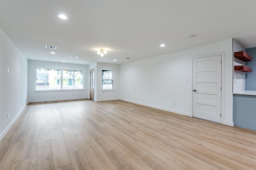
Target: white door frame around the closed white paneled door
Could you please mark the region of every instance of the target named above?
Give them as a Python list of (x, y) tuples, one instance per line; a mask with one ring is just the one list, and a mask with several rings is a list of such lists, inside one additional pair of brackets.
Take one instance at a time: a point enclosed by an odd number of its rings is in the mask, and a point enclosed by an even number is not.
[[(190, 87), (191, 87), (191, 93), (190, 93), (190, 113), (191, 113), (191, 117), (193, 117), (193, 59), (195, 58), (202, 58), (202, 57), (210, 57), (210, 56), (214, 56), (214, 55), (221, 55), (221, 122), (220, 123), (224, 123), (224, 118), (225, 118), (225, 53), (224, 52), (220, 52), (220, 53), (212, 53), (212, 54), (206, 54), (206, 55), (198, 55), (198, 56), (194, 56), (191, 58), (191, 65), (192, 65), (192, 70), (191, 70), (191, 77), (192, 77), (192, 81), (190, 82)], [(225, 123), (224, 123), (225, 124)]]

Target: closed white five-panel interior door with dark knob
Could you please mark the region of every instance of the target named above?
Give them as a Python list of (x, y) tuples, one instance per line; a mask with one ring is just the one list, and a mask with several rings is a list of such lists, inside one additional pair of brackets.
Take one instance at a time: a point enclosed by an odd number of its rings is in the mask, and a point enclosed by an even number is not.
[(193, 117), (221, 122), (221, 55), (193, 59)]

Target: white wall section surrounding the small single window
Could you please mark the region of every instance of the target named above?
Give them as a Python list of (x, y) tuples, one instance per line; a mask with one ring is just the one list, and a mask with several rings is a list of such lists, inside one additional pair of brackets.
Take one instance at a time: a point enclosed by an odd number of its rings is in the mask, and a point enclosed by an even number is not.
[[(102, 69), (113, 69), (113, 87), (112, 91), (102, 90)], [(108, 63), (97, 63), (96, 66), (96, 99), (95, 101), (117, 100), (119, 99), (119, 65)]]

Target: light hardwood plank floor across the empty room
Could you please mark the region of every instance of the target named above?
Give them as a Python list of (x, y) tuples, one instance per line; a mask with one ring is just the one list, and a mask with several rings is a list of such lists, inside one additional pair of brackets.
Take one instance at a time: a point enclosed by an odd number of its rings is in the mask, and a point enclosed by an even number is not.
[(124, 101), (29, 103), (0, 169), (255, 170), (256, 131)]

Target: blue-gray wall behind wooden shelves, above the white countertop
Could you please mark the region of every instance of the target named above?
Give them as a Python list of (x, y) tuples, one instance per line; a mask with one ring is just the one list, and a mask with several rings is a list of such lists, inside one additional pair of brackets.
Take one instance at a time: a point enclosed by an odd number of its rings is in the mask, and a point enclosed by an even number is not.
[(246, 73), (245, 89), (256, 90), (256, 47), (247, 48), (246, 53), (252, 57), (252, 61), (246, 62), (246, 66), (251, 67), (252, 72)]

